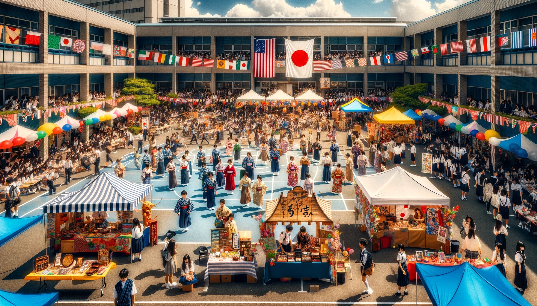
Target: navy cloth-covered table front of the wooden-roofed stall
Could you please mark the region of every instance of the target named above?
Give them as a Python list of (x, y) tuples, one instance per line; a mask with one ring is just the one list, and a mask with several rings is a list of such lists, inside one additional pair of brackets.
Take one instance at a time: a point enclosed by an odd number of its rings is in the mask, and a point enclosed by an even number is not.
[(273, 278), (326, 278), (332, 279), (330, 263), (265, 263), (263, 285)]

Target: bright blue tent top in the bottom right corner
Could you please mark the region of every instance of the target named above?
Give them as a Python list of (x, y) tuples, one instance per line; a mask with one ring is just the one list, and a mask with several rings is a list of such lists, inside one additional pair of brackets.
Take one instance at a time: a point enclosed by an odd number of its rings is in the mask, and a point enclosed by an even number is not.
[(416, 264), (416, 271), (434, 306), (497, 306), (531, 304), (514, 289), (496, 266), (476, 268)]

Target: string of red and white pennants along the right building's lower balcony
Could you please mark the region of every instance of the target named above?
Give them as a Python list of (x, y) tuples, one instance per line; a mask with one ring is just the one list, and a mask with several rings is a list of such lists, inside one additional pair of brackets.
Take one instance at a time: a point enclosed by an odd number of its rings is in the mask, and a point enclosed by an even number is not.
[(523, 121), (523, 120), (516, 120), (516, 119), (507, 118), (507, 117), (503, 117), (503, 116), (488, 114), (488, 113), (485, 113), (483, 111), (468, 109), (468, 108), (465, 108), (465, 107), (462, 107), (462, 106), (459, 106), (459, 105), (455, 106), (455, 105), (445, 103), (445, 102), (442, 102), (442, 101), (436, 101), (436, 100), (424, 98), (422, 96), (418, 97), (418, 100), (422, 101), (425, 104), (431, 102), (432, 105), (446, 108), (449, 114), (453, 114), (453, 115), (464, 115), (464, 114), (466, 114), (466, 115), (469, 115), (469, 116), (471, 116), (472, 120), (482, 119), (482, 120), (485, 120), (485, 121), (490, 122), (490, 123), (509, 126), (512, 129), (514, 129), (516, 127), (516, 125), (518, 124), (520, 133), (523, 133), (523, 134), (526, 134), (528, 132), (529, 126), (532, 127), (534, 133), (535, 133), (535, 128), (537, 127), (537, 123), (532, 123), (532, 122), (527, 122), (527, 121)]

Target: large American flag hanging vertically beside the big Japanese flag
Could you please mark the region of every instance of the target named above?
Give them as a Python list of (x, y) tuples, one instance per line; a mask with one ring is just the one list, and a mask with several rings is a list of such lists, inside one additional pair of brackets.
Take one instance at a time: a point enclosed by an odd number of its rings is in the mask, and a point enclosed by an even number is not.
[(276, 39), (253, 39), (253, 76), (274, 77), (274, 54)]

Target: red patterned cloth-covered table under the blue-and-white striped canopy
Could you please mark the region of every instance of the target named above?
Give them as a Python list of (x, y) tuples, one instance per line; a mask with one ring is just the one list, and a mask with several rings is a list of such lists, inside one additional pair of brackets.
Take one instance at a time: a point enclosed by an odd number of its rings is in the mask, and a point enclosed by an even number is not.
[(98, 252), (100, 249), (130, 254), (130, 233), (78, 234), (75, 236), (75, 253)]

